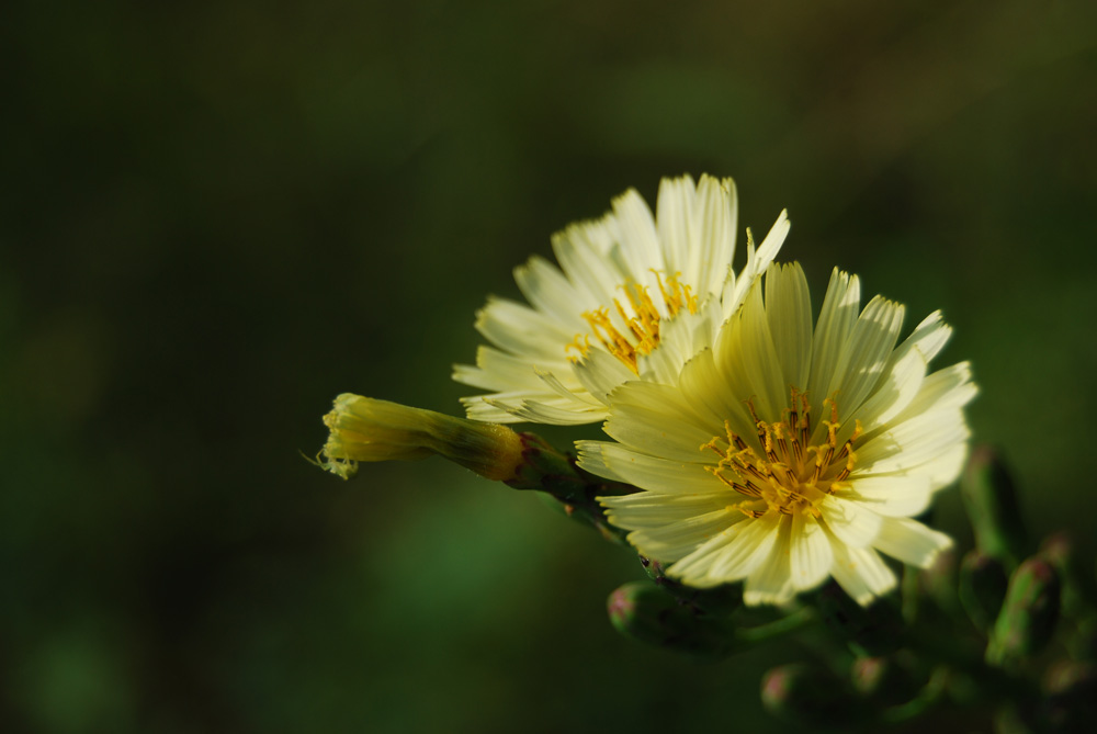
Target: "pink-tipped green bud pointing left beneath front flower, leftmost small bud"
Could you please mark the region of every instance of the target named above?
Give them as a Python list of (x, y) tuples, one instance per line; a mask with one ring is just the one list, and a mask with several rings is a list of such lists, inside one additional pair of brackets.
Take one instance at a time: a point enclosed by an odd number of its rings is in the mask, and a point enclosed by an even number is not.
[(607, 601), (618, 632), (640, 642), (700, 657), (719, 658), (738, 644), (732, 629), (705, 617), (648, 581), (630, 581)]

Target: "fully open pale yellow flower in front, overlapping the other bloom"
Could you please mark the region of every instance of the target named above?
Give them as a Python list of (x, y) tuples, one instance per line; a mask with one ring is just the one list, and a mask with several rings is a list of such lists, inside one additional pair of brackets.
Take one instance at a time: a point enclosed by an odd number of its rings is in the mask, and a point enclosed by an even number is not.
[(610, 397), (579, 465), (642, 492), (601, 498), (641, 553), (697, 587), (745, 580), (780, 605), (828, 576), (868, 605), (895, 586), (878, 552), (926, 567), (950, 539), (912, 520), (959, 475), (968, 363), (927, 374), (951, 329), (931, 314), (896, 346), (902, 305), (860, 310), (835, 270), (818, 324), (799, 264), (770, 266), (711, 349)]

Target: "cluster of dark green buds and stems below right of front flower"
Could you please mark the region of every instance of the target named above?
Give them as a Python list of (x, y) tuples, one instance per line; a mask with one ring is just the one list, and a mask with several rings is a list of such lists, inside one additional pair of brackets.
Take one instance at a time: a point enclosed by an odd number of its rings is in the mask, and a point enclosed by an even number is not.
[(1066, 533), (1029, 540), (999, 455), (962, 481), (975, 547), (909, 574), (903, 599), (868, 609), (825, 587), (815, 609), (851, 657), (779, 666), (761, 698), (790, 723), (900, 724), (938, 710), (1008, 734), (1088, 731), (1097, 711), (1095, 587)]

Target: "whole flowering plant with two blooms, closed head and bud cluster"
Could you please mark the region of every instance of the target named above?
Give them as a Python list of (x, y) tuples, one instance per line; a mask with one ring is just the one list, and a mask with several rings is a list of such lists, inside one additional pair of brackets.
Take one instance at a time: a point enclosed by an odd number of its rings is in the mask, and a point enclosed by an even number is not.
[[(485, 391), (468, 419), (343, 394), (316, 463), (346, 479), (440, 455), (542, 493), (640, 554), (649, 578), (607, 605), (622, 634), (702, 658), (793, 634), (822, 653), (764, 679), (764, 705), (798, 725), (946, 708), (999, 732), (1092, 723), (1097, 587), (1065, 535), (1032, 555), (997, 451), (968, 460), (979, 388), (966, 362), (929, 368), (941, 314), (901, 338), (904, 306), (862, 308), (835, 269), (816, 320), (799, 263), (773, 263), (785, 215), (758, 246), (747, 232), (735, 270), (737, 215), (731, 179), (665, 179), (654, 213), (619, 196), (554, 238), (558, 267), (516, 270), (529, 305), (479, 312), (488, 343), (454, 371)], [(577, 459), (504, 425), (519, 421), (606, 436)], [(961, 474), (975, 549), (958, 563), (927, 510)]]

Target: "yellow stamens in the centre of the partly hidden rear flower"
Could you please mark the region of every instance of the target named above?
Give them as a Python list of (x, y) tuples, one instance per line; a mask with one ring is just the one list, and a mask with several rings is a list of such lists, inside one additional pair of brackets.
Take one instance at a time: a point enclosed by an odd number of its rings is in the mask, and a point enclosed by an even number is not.
[[(664, 283), (663, 276), (657, 271), (652, 272), (655, 273), (659, 284), (659, 295), (663, 297), (669, 318), (674, 318), (682, 308), (691, 314), (697, 313), (698, 297), (689, 285), (678, 280), (681, 273), (667, 276)], [(638, 375), (640, 355), (651, 354), (659, 346), (659, 321), (664, 317), (652, 300), (647, 286), (630, 282), (618, 287), (624, 292), (626, 303), (613, 298), (612, 310), (603, 306), (584, 312), (583, 318), (590, 326), (590, 331), (577, 334), (565, 347), (565, 351), (578, 352), (568, 357), (572, 360), (586, 357), (590, 350), (590, 338), (593, 337), (610, 354)]]

